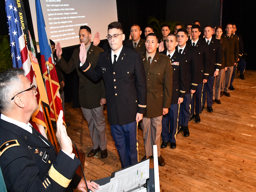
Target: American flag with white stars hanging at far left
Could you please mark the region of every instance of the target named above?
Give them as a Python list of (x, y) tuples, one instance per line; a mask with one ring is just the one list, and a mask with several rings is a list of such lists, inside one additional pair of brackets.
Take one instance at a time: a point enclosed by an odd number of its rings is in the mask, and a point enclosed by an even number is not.
[[(10, 46), (12, 54), (12, 65), (14, 68), (23, 68), (25, 76), (28, 80), (36, 86), (36, 99), (39, 105), (39, 109), (33, 114), (32, 121), (33, 127), (39, 130), (44, 137), (47, 138), (44, 131), (45, 120), (41, 107), (40, 92), (37, 86), (37, 80), (31, 60), (29, 57), (28, 47), (25, 41), (23, 30), (21, 29), (19, 12), (17, 11), (17, 5), (15, 0), (5, 0), (5, 11), (7, 16), (7, 23), (9, 26)], [(36, 123), (36, 124), (35, 124)]]

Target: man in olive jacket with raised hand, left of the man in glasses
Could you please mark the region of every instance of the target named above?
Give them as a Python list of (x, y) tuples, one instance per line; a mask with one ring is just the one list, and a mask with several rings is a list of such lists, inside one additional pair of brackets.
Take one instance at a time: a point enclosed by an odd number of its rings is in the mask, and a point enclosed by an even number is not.
[[(95, 68), (98, 62), (100, 52), (103, 50), (100, 47), (94, 46), (91, 43), (91, 29), (88, 26), (81, 26), (79, 30), (80, 42), (84, 42), (86, 52), (88, 54), (87, 60)], [(72, 72), (75, 68), (79, 76), (79, 104), (84, 114), (84, 118), (88, 122), (89, 132), (92, 139), (92, 150), (87, 157), (94, 156), (101, 151), (101, 158), (108, 156), (107, 152), (107, 137), (106, 137), (106, 122), (103, 115), (104, 104), (106, 103), (105, 85), (102, 79), (92, 81), (79, 68), (79, 48), (73, 52), (71, 59), (66, 61), (61, 57), (62, 49), (58, 42), (56, 47), (56, 55), (58, 57), (57, 65), (65, 73)]]

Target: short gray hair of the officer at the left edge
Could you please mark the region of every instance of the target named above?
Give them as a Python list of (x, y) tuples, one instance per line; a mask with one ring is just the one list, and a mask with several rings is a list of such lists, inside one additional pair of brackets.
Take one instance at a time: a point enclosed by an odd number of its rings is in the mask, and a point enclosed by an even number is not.
[(6, 69), (0, 73), (0, 112), (6, 112), (11, 108), (11, 98), (14, 93), (20, 92), (23, 88), (20, 75), (24, 75), (24, 70), (21, 68)]

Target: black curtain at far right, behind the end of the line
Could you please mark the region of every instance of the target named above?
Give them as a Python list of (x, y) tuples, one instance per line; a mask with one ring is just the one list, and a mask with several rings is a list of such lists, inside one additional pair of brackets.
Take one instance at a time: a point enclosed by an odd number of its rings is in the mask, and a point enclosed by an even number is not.
[[(246, 70), (256, 70), (255, 62), (255, 1), (223, 0), (222, 27), (225, 32), (227, 23), (236, 24), (237, 34), (242, 36), (244, 42)], [(245, 72), (246, 73), (246, 72)], [(245, 75), (246, 77), (246, 75)]]

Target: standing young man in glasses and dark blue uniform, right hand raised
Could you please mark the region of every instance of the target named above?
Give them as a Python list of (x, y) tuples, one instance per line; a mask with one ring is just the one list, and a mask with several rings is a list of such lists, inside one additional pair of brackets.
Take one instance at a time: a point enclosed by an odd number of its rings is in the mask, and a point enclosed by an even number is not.
[(100, 53), (94, 69), (86, 59), (84, 43), (81, 44), (80, 68), (93, 81), (104, 79), (108, 122), (124, 168), (138, 162), (137, 123), (146, 113), (146, 77), (140, 54), (123, 47), (121, 23), (108, 25), (107, 39), (111, 49)]

